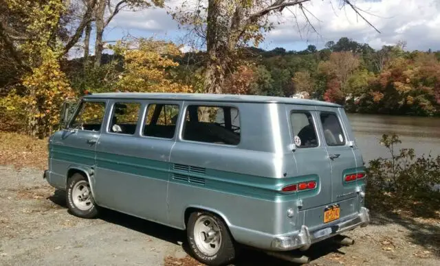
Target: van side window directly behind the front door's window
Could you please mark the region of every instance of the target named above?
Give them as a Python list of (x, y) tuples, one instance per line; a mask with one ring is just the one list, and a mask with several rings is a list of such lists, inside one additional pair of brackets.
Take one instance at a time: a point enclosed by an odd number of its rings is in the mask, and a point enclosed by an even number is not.
[(133, 135), (136, 132), (140, 104), (115, 103), (111, 115), (109, 132)]

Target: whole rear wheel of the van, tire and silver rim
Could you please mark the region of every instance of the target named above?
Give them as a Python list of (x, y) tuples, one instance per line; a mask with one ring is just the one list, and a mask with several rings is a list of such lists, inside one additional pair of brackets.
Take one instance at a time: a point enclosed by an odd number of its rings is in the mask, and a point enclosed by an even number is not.
[(235, 257), (234, 241), (223, 220), (212, 213), (191, 213), (187, 226), (192, 254), (206, 265), (225, 265)]

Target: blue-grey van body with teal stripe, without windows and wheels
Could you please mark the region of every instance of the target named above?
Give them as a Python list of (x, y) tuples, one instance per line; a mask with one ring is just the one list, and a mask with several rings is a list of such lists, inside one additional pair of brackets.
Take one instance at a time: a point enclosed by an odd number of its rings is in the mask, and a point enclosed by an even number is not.
[[(82, 101), (103, 101), (104, 121), (99, 132), (66, 128), (50, 137), (45, 177), (58, 189), (66, 189), (69, 176), (80, 172), (99, 206), (182, 230), (192, 210), (210, 210), (223, 218), (235, 241), (264, 250), (307, 249), (369, 222), (363, 207), (365, 180), (344, 182), (345, 174), (363, 172), (364, 165), (341, 106), (278, 97), (140, 93), (96, 94)], [(135, 134), (109, 132), (116, 102), (141, 104)], [(148, 104), (179, 106), (173, 138), (142, 136)], [(240, 143), (185, 141), (188, 105), (237, 108)], [(292, 145), (290, 114), (297, 111), (312, 115), (318, 147)], [(326, 144), (320, 112), (338, 116), (344, 145)], [(316, 189), (281, 191), (305, 181), (315, 181)], [(340, 219), (323, 223), (324, 209), (332, 204), (339, 204)]]

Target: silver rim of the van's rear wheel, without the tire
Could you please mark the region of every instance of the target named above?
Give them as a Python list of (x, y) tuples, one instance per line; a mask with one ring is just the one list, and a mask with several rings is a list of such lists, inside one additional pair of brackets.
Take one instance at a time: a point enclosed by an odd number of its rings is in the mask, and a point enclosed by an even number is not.
[(217, 222), (208, 215), (201, 215), (194, 226), (195, 244), (203, 254), (214, 256), (219, 252), (221, 233)]

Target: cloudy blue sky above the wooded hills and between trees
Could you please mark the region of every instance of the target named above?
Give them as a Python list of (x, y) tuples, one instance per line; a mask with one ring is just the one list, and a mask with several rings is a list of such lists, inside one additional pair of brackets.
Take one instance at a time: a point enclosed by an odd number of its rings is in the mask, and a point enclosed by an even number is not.
[[(166, 1), (168, 10), (181, 5), (183, 0)], [(440, 50), (440, 0), (357, 0), (355, 3), (368, 12), (364, 14), (380, 34), (367, 25), (349, 8), (341, 9), (339, 0), (311, 0), (305, 4), (307, 10), (318, 19), (311, 18), (318, 34), (305, 25), (303, 16), (298, 16), (298, 25), (292, 12), (270, 19), (279, 21), (268, 33), (263, 49), (283, 47), (286, 50), (303, 50), (307, 45), (321, 48), (328, 40), (349, 37), (359, 43), (369, 43), (378, 49), (382, 45), (393, 45), (405, 40), (408, 50)], [(179, 30), (177, 23), (166, 14), (167, 9), (122, 11), (110, 23), (104, 40), (118, 40), (127, 34), (138, 37), (154, 37), (182, 43), (181, 36), (186, 32)], [(297, 13), (300, 14), (300, 13)]]

